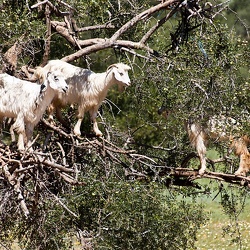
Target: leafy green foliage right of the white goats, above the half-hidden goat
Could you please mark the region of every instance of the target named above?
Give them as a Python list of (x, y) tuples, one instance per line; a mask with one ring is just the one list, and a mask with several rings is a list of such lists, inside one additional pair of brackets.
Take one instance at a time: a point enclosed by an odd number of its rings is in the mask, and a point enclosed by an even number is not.
[[(124, 115), (114, 120), (115, 127), (130, 131), (141, 153), (150, 155), (145, 144), (175, 147), (157, 155), (168, 166), (179, 166), (192, 150), (184, 130), (187, 120), (206, 124), (211, 116), (227, 114), (242, 124), (240, 130), (249, 131), (249, 61), (242, 60), (249, 55), (248, 42), (218, 23), (190, 34), (179, 50), (157, 66), (148, 63), (135, 71), (136, 83), (116, 101)], [(170, 110), (167, 121), (157, 114), (162, 105)]]

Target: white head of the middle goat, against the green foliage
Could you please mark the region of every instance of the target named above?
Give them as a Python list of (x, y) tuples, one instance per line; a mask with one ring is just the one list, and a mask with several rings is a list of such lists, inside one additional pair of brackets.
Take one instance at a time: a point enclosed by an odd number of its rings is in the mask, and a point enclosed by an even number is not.
[(113, 73), (120, 92), (123, 92), (126, 87), (130, 86), (130, 78), (128, 75), (130, 69), (128, 65), (123, 63), (112, 64), (107, 68), (107, 74)]

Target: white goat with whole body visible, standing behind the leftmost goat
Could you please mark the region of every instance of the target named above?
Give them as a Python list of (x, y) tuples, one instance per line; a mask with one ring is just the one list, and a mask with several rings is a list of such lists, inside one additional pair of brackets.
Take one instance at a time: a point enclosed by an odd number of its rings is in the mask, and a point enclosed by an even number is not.
[(48, 109), (49, 119), (53, 119), (52, 113), (56, 110), (58, 120), (65, 124), (61, 108), (67, 104), (77, 104), (78, 121), (74, 127), (74, 134), (81, 135), (80, 127), (84, 113), (89, 111), (94, 133), (97, 136), (102, 136), (96, 121), (98, 109), (112, 85), (118, 84), (120, 92), (130, 85), (128, 76), (130, 67), (123, 63), (117, 63), (110, 65), (104, 73), (94, 73), (91, 70), (82, 69), (60, 60), (51, 60), (44, 69), (61, 71), (69, 85), (69, 91), (66, 94), (60, 93), (54, 98)]

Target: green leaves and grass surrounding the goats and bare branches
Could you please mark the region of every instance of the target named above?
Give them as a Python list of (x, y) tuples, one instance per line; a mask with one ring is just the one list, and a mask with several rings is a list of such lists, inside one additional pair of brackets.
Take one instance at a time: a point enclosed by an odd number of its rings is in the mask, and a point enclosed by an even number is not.
[[(215, 6), (222, 1), (211, 2)], [(2, 68), (22, 78), (22, 66), (34, 68), (46, 59), (48, 27), (44, 7), (31, 9), (36, 3), (0, 2)], [(72, 6), (78, 27), (113, 25), (79, 32), (79, 41), (111, 37), (133, 17), (159, 4), (143, 0), (51, 3), (61, 10)], [(140, 40), (171, 8), (133, 26), (121, 39)], [(30, 210), (27, 218), (16, 190), (1, 177), (0, 247), (12, 249), (15, 242), (21, 249), (248, 249), (249, 221), (244, 210), (249, 203), (248, 189), (204, 180), (179, 186), (162, 172), (167, 167), (179, 167), (193, 151), (183, 126), (187, 119), (205, 124), (211, 115), (227, 114), (240, 121), (242, 132), (249, 133), (249, 10), (248, 1), (233, 0), (213, 22), (182, 22), (183, 12), (176, 12), (147, 41), (157, 56), (134, 49), (135, 56), (112, 47), (74, 60), (73, 64), (95, 72), (125, 62), (132, 67), (132, 85), (123, 94), (116, 88), (110, 90), (100, 110), (100, 127), (105, 132), (105, 139), (96, 139), (100, 144), (92, 141), (87, 116), (82, 126), (86, 136), (74, 147), (71, 139), (39, 124), (37, 148), (52, 133), (51, 144), (42, 152), (57, 159), (60, 147), (56, 143), (60, 142), (67, 163), (77, 170), (75, 177), (84, 185), (71, 185), (53, 168), (38, 163), (20, 181)], [(51, 16), (62, 21), (55, 13)], [(21, 50), (19, 53), (16, 49), (17, 65), (13, 70), (5, 67), (5, 56), (16, 42)], [(78, 50), (59, 32), (52, 32), (49, 59), (61, 59)], [(171, 110), (168, 120), (157, 113), (162, 105)], [(65, 111), (71, 122), (73, 114)], [(132, 153), (111, 154), (102, 148), (104, 144), (117, 151), (131, 151), (137, 158)], [(0, 154), (4, 156), (3, 148)], [(211, 158), (219, 157), (227, 150), (228, 142), (215, 143), (211, 148)], [(18, 160), (22, 157), (13, 152), (10, 155)], [(163, 166), (163, 171), (152, 167), (152, 161)], [(0, 165), (0, 173), (4, 166)], [(193, 160), (189, 166), (198, 168), (199, 163)], [(233, 155), (228, 162), (216, 165), (216, 171), (224, 173), (237, 168), (238, 159)], [(223, 239), (227, 242), (222, 243)]]

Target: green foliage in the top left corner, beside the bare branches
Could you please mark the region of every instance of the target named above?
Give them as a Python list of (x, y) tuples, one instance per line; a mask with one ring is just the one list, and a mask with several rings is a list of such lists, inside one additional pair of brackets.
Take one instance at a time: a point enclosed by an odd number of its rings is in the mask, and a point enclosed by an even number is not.
[[(30, 1), (30, 4), (35, 2)], [(27, 8), (25, 1), (3, 1), (0, 12), (0, 44), (3, 52), (16, 41), (20, 41), (25, 44), (23, 60), (26, 56), (28, 60), (35, 60), (35, 56), (38, 56), (42, 49), (46, 31), (38, 13)]]

